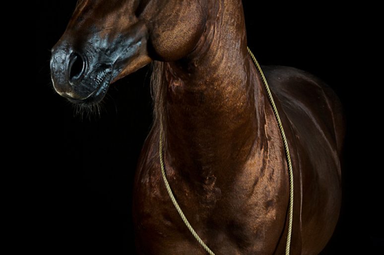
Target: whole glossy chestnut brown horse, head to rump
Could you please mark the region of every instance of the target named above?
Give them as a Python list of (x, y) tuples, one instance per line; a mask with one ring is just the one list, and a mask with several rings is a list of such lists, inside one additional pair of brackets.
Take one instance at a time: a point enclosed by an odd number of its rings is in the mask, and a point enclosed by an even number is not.
[[(133, 214), (139, 254), (205, 254), (175, 210), (170, 186), (217, 255), (283, 254), (289, 184), (283, 143), (247, 53), (241, 0), (79, 0), (52, 50), (52, 80), (93, 105), (109, 84), (153, 63), (155, 122), (142, 149)], [(341, 200), (340, 103), (318, 78), (264, 67), (294, 169), (291, 254), (318, 254)]]

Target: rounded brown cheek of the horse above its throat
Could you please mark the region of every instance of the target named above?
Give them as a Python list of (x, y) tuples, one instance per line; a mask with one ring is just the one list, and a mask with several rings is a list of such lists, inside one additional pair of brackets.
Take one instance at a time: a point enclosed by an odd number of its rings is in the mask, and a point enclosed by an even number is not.
[(156, 1), (150, 1), (140, 16), (149, 28), (150, 50), (155, 55), (151, 57), (166, 62), (185, 57), (204, 32), (206, 9), (197, 1), (170, 0), (158, 6), (153, 2)]

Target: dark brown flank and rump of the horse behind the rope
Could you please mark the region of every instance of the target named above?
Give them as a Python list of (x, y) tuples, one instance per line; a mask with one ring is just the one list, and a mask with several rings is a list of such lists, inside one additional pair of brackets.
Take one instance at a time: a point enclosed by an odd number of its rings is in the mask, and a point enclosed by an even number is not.
[(294, 145), (290, 149), (294, 175), (300, 176), (295, 189), (301, 192), (301, 200), (296, 201), (300, 202), (302, 252), (320, 252), (333, 233), (340, 209), (341, 103), (312, 74), (284, 66), (264, 70), (283, 116), (288, 143)]

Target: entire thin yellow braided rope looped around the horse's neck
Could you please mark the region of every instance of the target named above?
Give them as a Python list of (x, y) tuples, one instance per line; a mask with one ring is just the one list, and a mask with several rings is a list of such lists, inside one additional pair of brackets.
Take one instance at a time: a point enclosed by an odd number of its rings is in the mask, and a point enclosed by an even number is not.
[[(293, 171), (292, 171), (291, 156), (289, 154), (289, 148), (288, 148), (287, 139), (285, 137), (284, 128), (283, 128), (283, 125), (281, 124), (280, 116), (279, 116), (279, 113), (277, 112), (277, 108), (276, 108), (275, 102), (273, 100), (271, 91), (269, 89), (268, 83), (267, 83), (267, 81), (265, 79), (265, 76), (264, 76), (264, 74), (263, 74), (263, 72), (261, 70), (260, 65), (256, 61), (256, 58), (255, 58), (254, 54), (251, 52), (250, 48), (247, 47), (247, 50), (248, 50), (252, 60), (255, 62), (256, 67), (257, 67), (257, 69), (258, 69), (258, 71), (259, 71), (259, 73), (261, 75), (262, 81), (264, 82), (265, 89), (267, 91), (267, 95), (268, 95), (268, 98), (269, 98), (269, 102), (270, 102), (270, 104), (272, 106), (273, 113), (275, 114), (275, 117), (276, 117), (276, 120), (277, 120), (277, 124), (278, 124), (278, 126), (280, 128), (281, 136), (283, 138), (283, 143), (284, 143), (285, 155), (287, 157), (288, 171), (289, 171), (289, 210), (288, 210), (288, 235), (287, 235), (287, 244), (286, 244), (286, 248), (285, 248), (285, 255), (289, 255), (289, 249), (290, 249), (290, 246), (291, 246), (291, 235), (292, 235), (292, 220), (293, 220)], [(180, 217), (182, 218), (182, 220), (184, 221), (184, 223), (186, 224), (188, 229), (191, 231), (193, 237), (197, 240), (197, 242), (204, 248), (204, 250), (208, 254), (215, 255), (208, 248), (208, 246), (201, 240), (201, 238), (197, 235), (196, 231), (194, 231), (194, 229), (192, 228), (191, 224), (189, 223), (189, 221), (187, 220), (186, 216), (184, 215), (182, 209), (180, 208), (178, 202), (176, 201), (176, 198), (173, 195), (171, 187), (169, 186), (169, 183), (168, 183), (168, 180), (167, 180), (167, 176), (165, 174), (165, 167), (164, 167), (164, 159), (163, 159), (163, 132), (162, 132), (161, 129), (160, 129), (160, 138), (159, 138), (159, 157), (160, 157), (161, 174), (163, 176), (165, 188), (168, 191), (169, 197), (171, 198), (173, 205), (175, 206), (176, 210), (180, 214)]]

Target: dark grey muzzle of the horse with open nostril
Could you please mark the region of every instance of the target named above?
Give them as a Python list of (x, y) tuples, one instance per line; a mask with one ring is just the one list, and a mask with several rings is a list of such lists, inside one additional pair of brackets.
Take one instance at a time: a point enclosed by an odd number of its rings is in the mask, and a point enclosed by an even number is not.
[(110, 83), (152, 61), (147, 53), (148, 32), (143, 23), (133, 25), (125, 33), (100, 33), (84, 33), (86, 37), (75, 36), (73, 31), (64, 33), (52, 49), (54, 88), (70, 102), (99, 103)]

